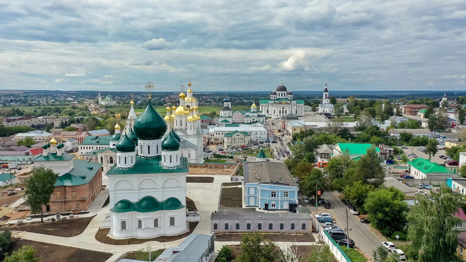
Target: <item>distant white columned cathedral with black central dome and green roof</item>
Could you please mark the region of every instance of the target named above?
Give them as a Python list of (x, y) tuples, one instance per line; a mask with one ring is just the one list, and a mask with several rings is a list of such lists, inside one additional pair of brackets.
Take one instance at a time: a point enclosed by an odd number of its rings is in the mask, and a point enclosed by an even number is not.
[(304, 116), (304, 101), (295, 100), (293, 92), (287, 90), (283, 83), (280, 83), (275, 90), (270, 93), (269, 100), (260, 100), (260, 111), (267, 117), (281, 118), (288, 114), (298, 117)]

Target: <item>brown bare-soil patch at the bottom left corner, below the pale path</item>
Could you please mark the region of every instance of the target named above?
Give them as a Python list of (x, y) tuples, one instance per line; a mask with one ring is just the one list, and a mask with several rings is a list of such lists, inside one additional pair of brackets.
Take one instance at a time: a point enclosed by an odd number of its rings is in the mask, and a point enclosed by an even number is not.
[[(105, 262), (112, 256), (111, 253), (71, 248), (18, 238), (12, 238), (12, 245), (8, 254), (11, 255), (12, 251), (18, 251), (18, 249), (23, 246), (33, 246), (34, 249), (37, 250), (35, 255), (41, 258), (41, 262)], [(3, 262), (3, 259), (1, 261)]]

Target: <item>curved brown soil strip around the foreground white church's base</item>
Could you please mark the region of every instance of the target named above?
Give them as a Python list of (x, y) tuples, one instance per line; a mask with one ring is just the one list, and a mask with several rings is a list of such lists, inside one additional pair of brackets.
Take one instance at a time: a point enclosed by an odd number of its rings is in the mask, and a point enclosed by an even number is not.
[(133, 244), (142, 244), (148, 241), (159, 241), (159, 242), (170, 242), (178, 239), (182, 239), (194, 231), (194, 228), (197, 227), (199, 222), (189, 222), (189, 232), (180, 235), (174, 236), (159, 236), (156, 238), (149, 239), (138, 239), (138, 238), (129, 238), (129, 239), (113, 239), (107, 236), (109, 234), (110, 228), (102, 228), (97, 231), (96, 240), (109, 245), (133, 245)]

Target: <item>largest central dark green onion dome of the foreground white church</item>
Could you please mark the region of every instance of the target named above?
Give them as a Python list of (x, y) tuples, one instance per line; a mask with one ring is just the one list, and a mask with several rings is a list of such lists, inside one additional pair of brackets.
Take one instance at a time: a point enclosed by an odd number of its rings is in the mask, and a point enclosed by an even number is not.
[(152, 140), (162, 138), (167, 131), (167, 125), (149, 100), (146, 110), (134, 121), (133, 129), (138, 139)]

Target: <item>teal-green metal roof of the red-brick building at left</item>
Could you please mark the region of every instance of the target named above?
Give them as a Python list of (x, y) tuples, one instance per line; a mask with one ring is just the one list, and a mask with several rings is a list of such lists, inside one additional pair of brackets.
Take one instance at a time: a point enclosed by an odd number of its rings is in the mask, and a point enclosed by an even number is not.
[(89, 183), (89, 181), (100, 170), (102, 164), (75, 159), (73, 169), (59, 176), (54, 186), (78, 186)]

